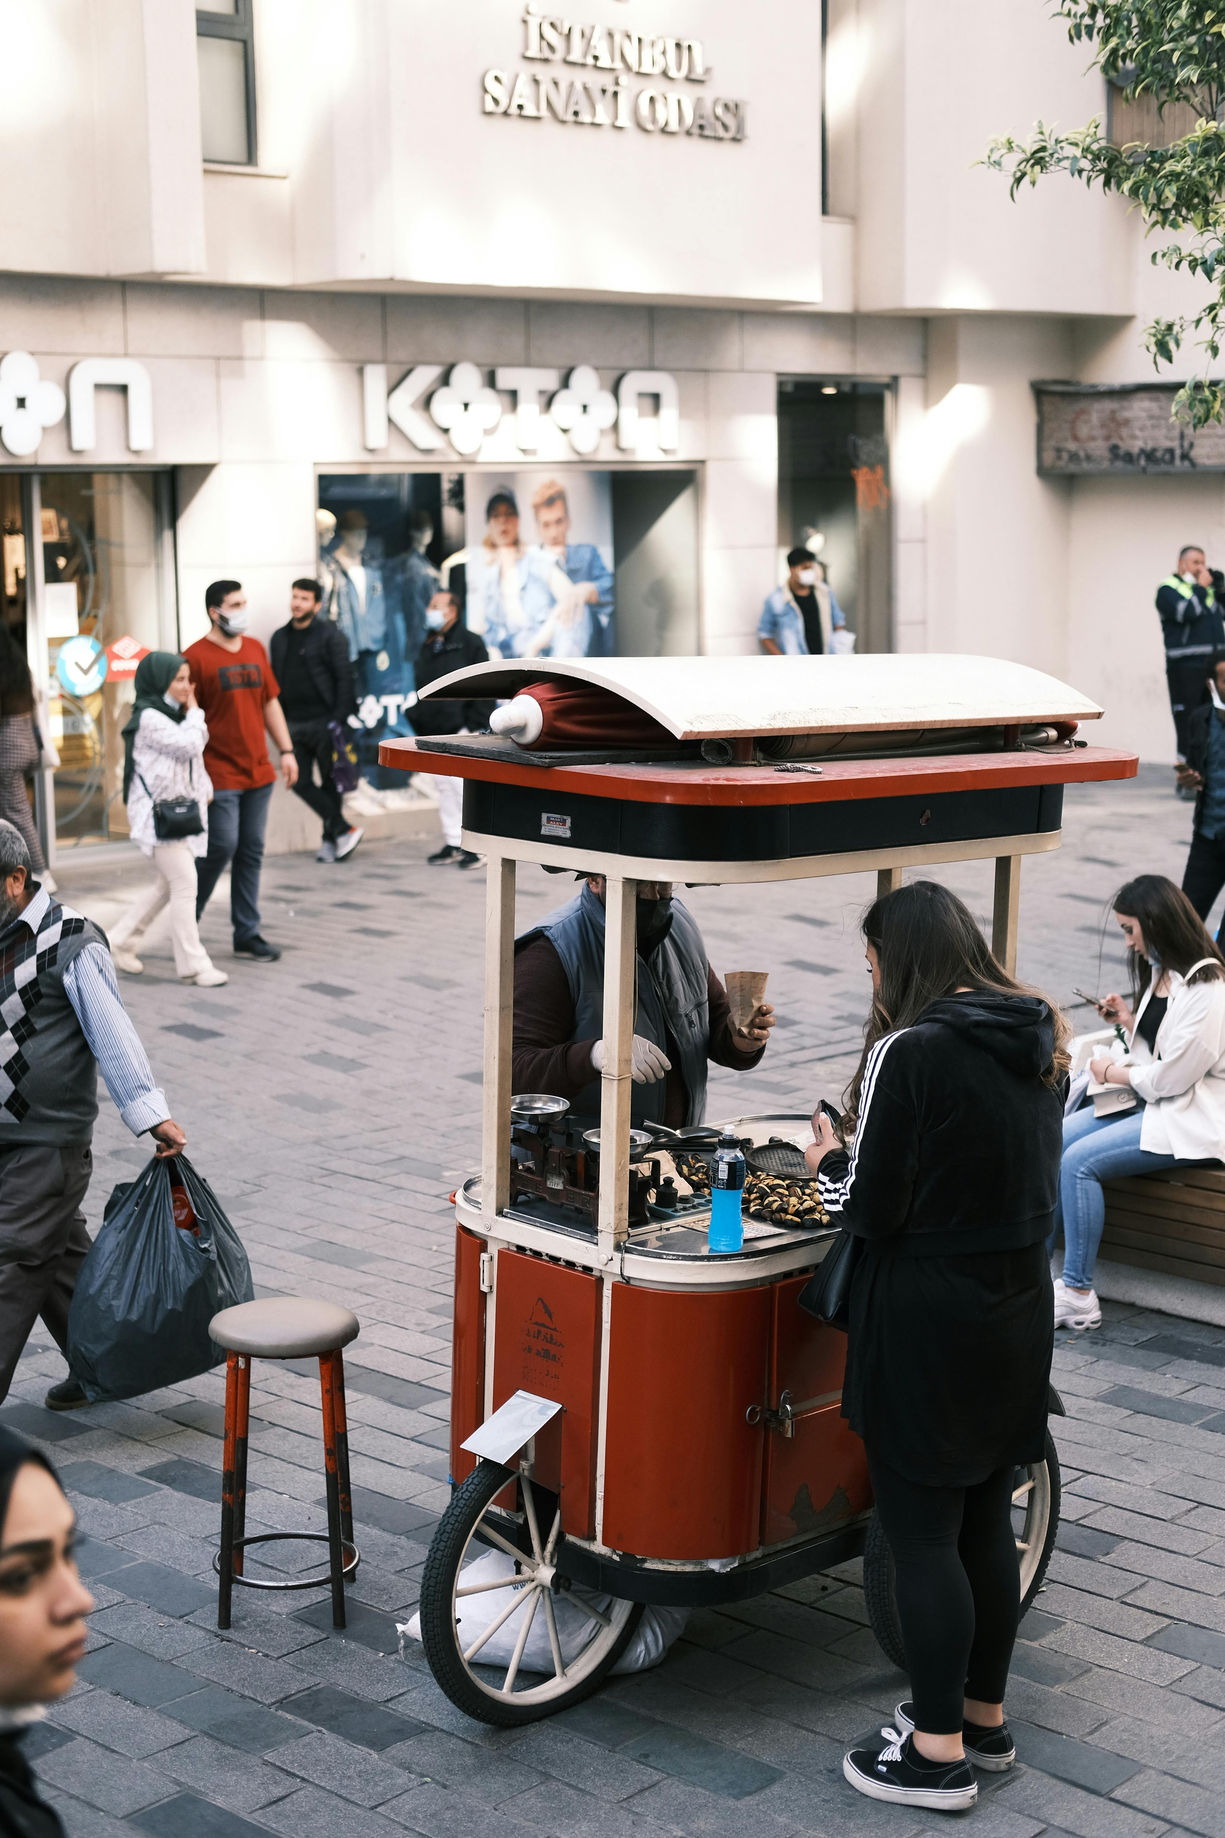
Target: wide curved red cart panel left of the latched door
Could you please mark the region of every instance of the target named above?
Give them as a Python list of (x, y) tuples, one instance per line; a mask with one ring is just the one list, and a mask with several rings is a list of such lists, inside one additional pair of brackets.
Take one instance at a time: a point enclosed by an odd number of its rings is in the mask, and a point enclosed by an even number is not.
[(604, 1544), (634, 1557), (757, 1549), (770, 1290), (613, 1285)]

